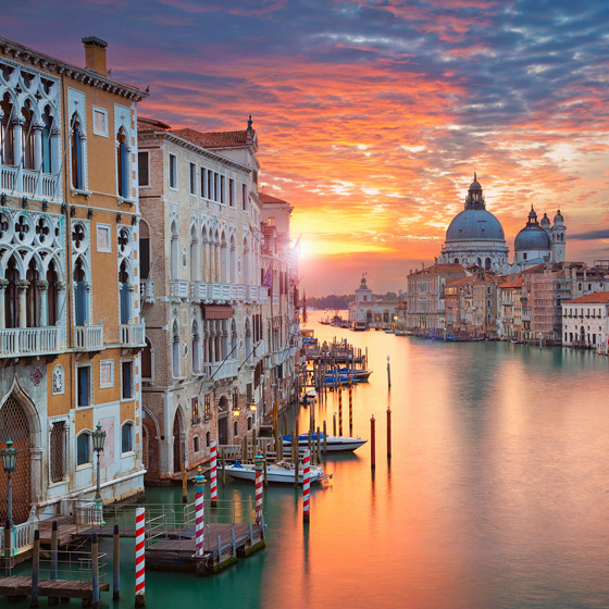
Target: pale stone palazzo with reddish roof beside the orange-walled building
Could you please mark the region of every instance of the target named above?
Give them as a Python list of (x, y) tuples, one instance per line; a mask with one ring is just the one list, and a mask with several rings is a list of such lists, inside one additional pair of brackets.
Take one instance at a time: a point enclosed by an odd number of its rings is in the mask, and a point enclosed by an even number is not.
[(259, 424), (258, 142), (251, 123), (203, 134), (140, 119), (138, 129), (144, 452), (147, 477), (169, 481), (209, 459), (212, 438), (232, 444)]

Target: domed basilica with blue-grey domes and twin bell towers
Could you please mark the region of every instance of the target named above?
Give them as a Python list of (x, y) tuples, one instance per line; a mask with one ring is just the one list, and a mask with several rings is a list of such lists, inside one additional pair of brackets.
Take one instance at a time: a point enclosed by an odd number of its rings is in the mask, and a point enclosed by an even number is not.
[(470, 184), (465, 208), (459, 212), (446, 231), (439, 262), (456, 262), (463, 266), (475, 264), (496, 273), (517, 273), (542, 262), (564, 261), (564, 220), (560, 210), (554, 217), (554, 226), (547, 214), (537, 222), (531, 206), (529, 221), (514, 240), (514, 257), (510, 264), (506, 237), (501, 223), (486, 209), (482, 186), (476, 179)]

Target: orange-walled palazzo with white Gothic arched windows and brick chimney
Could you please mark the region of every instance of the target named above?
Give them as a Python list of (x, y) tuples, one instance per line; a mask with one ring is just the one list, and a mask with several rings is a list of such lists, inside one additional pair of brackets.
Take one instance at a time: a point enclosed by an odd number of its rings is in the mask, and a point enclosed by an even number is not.
[[(18, 450), (13, 517), (142, 490), (139, 89), (0, 39), (0, 444)], [(0, 520), (7, 513), (0, 474)]]

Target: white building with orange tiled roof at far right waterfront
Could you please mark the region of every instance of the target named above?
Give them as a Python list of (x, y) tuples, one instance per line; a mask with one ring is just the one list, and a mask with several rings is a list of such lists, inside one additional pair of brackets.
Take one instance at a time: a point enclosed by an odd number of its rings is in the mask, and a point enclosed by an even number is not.
[(562, 344), (607, 352), (609, 291), (595, 291), (562, 303)]

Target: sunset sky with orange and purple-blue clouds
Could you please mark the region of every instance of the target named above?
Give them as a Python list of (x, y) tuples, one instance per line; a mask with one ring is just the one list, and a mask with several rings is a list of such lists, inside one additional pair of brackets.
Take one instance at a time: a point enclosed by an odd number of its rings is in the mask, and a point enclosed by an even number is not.
[[(252, 115), (308, 296), (406, 288), (477, 172), (513, 252), (531, 204), (567, 258), (609, 259), (606, 0), (2, 0), (0, 34), (112, 77), (172, 127)], [(9, 8), (8, 8), (9, 7)], [(510, 253), (510, 257), (512, 253)]]

